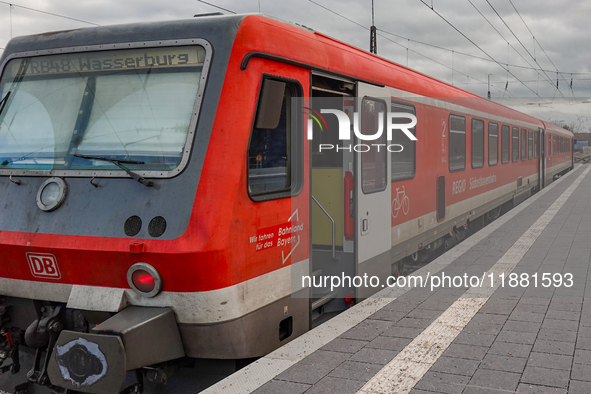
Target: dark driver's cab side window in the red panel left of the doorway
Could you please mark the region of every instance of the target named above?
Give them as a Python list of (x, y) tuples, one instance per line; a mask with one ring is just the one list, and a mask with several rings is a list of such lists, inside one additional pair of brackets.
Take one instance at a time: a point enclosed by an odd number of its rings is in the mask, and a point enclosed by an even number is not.
[[(299, 130), (300, 121), (299, 116), (292, 114), (302, 113), (297, 100), (300, 91), (293, 83), (269, 77), (263, 79), (257, 120), (248, 146), (248, 192), (255, 201), (289, 197), (299, 186), (299, 166), (292, 168), (292, 165), (294, 155), (299, 156), (293, 131)], [(280, 97), (281, 106), (276, 108), (278, 116), (272, 114), (275, 109), (265, 106), (269, 101), (267, 94)], [(261, 111), (266, 113), (261, 115)]]

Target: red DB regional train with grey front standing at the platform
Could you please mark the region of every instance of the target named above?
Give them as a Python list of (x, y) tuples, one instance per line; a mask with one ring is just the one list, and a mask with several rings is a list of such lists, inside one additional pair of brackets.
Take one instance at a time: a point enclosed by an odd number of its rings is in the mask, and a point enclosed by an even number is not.
[(314, 280), (385, 281), (573, 167), (566, 130), (259, 15), (18, 37), (0, 64), (5, 388), (262, 356), (377, 290)]

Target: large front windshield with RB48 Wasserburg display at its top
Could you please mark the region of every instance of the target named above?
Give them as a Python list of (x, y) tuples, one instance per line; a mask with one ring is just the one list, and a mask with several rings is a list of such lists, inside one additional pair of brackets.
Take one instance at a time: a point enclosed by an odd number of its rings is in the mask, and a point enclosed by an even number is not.
[(0, 79), (0, 169), (171, 171), (205, 60), (201, 46), (10, 60)]

